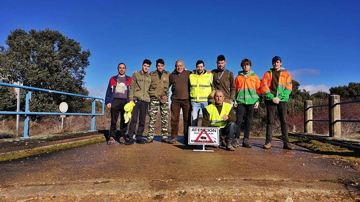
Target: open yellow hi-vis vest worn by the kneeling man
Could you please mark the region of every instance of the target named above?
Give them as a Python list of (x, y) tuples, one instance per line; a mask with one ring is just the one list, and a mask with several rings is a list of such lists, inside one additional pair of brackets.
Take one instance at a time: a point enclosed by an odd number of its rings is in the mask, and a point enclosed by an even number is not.
[(222, 102), (222, 109), (221, 109), (221, 113), (219, 114), (219, 111), (217, 111), (217, 109), (216, 109), (215, 103), (208, 105), (206, 107), (206, 110), (210, 114), (210, 117), (209, 117), (210, 125), (209, 126), (224, 128), (226, 126), (226, 123), (228, 123), (228, 122), (222, 120), (221, 117), (224, 116), (224, 114), (229, 115), (230, 110), (232, 110), (232, 109), (233, 109), (233, 106), (231, 104)]

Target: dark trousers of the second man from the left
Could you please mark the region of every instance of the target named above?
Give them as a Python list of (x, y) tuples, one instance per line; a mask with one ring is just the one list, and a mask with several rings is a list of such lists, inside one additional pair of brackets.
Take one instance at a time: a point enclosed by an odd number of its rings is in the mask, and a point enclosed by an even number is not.
[[(141, 139), (141, 136), (144, 133), (145, 119), (146, 114), (148, 113), (149, 102), (144, 102), (141, 100), (134, 100), (135, 106), (132, 109), (131, 121), (129, 127), (129, 136), (131, 139)], [(136, 123), (138, 123), (138, 131), (135, 134)]]

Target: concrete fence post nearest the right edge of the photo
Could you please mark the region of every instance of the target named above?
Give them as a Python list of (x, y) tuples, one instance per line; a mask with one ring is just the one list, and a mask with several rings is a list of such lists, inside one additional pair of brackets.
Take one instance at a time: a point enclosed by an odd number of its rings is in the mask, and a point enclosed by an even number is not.
[(341, 137), (341, 125), (340, 122), (335, 122), (340, 120), (340, 105), (334, 106), (336, 103), (340, 102), (339, 95), (330, 95), (329, 96), (329, 136), (330, 137)]

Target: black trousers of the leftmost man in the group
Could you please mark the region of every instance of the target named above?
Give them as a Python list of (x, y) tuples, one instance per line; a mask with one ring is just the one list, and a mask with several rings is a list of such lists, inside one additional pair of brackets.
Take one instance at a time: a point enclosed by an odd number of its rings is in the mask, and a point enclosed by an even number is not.
[(127, 132), (127, 124), (125, 123), (124, 119), (124, 106), (126, 105), (126, 99), (114, 98), (113, 103), (111, 104), (111, 122), (110, 122), (110, 129), (109, 129), (109, 137), (115, 138), (116, 136), (116, 124), (117, 119), (120, 114), (120, 137), (125, 138)]

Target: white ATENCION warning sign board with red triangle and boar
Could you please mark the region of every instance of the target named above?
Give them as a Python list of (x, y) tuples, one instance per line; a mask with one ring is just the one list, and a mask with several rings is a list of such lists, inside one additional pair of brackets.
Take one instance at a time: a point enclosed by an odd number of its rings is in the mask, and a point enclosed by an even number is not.
[(189, 127), (189, 144), (219, 145), (219, 128)]

